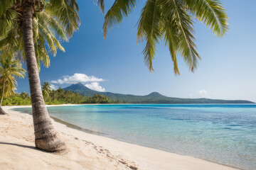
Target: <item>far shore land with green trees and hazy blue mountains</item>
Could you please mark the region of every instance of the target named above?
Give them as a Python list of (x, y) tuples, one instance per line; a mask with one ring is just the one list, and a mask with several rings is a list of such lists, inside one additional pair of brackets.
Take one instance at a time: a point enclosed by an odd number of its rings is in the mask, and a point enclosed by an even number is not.
[[(47, 91), (47, 92), (46, 92)], [(82, 104), (82, 103), (158, 103), (158, 104), (250, 104), (245, 100), (220, 100), (210, 98), (172, 98), (157, 92), (145, 96), (132, 94), (114, 94), (111, 92), (94, 91), (78, 83), (64, 89), (50, 90), (50, 84), (42, 89), (43, 98), (48, 105)], [(4, 98), (3, 106), (29, 106), (31, 96), (26, 92), (13, 94)]]

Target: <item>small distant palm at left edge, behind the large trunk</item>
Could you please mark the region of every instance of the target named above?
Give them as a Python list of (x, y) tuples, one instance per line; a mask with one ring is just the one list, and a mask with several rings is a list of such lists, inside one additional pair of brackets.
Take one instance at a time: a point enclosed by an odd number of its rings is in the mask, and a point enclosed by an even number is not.
[(0, 84), (1, 84), (1, 102), (0, 102), (0, 115), (5, 115), (6, 112), (1, 108), (4, 96), (15, 94), (16, 78), (21, 77), (24, 79), (26, 76), (25, 70), (21, 67), (21, 63), (17, 60), (7, 59), (0, 61)]

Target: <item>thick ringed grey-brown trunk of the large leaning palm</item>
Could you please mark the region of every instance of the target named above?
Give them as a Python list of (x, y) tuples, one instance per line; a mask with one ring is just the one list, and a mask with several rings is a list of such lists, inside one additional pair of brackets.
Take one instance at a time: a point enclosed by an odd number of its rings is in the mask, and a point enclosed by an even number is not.
[(38, 149), (59, 152), (65, 150), (66, 147), (65, 142), (60, 140), (58, 133), (54, 129), (43, 101), (33, 43), (33, 5), (33, 0), (23, 0), (23, 42), (31, 92), (35, 143)]

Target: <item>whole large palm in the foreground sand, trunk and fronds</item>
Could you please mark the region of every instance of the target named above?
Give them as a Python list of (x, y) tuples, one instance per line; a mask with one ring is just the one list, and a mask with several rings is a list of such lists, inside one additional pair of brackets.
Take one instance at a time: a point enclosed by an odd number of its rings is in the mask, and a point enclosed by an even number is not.
[[(9, 38), (9, 42), (12, 43), (8, 45), (14, 46), (11, 52), (4, 53), (4, 57), (10, 57), (14, 52), (21, 52), (21, 56), (26, 59), (35, 143), (38, 149), (48, 152), (62, 151), (66, 147), (65, 142), (54, 129), (43, 101), (38, 64), (41, 60), (48, 62), (48, 53), (44, 45), (48, 44), (50, 52), (55, 52), (56, 46), (61, 50), (55, 35), (65, 40), (66, 35), (71, 37), (78, 29), (79, 23), (76, 0), (0, 1), (0, 40), (6, 42), (5, 39)], [(23, 43), (19, 43), (20, 40)], [(0, 50), (2, 50), (1, 45), (3, 44), (0, 42)]]

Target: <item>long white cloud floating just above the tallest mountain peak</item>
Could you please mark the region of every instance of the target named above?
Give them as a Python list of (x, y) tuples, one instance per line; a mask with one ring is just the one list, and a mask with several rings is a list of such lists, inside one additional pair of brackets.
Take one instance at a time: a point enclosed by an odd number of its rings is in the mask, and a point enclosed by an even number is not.
[(87, 82), (100, 82), (104, 81), (104, 79), (99, 79), (94, 76), (87, 76), (86, 74), (82, 73), (75, 73), (73, 76), (64, 76), (63, 79), (53, 80), (50, 81), (53, 84), (77, 84), (87, 83)]

